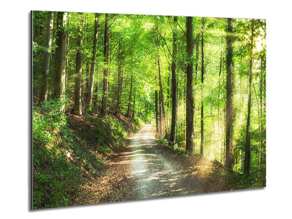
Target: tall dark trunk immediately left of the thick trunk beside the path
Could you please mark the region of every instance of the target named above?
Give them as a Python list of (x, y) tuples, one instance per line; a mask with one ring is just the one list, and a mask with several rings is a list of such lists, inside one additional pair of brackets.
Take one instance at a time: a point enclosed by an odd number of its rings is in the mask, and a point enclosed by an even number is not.
[(172, 39), (172, 63), (171, 63), (171, 129), (170, 129), (170, 138), (169, 145), (175, 144), (176, 137), (176, 117), (177, 117), (177, 81), (176, 81), (176, 62), (177, 62), (177, 22), (178, 17), (173, 17), (174, 26), (173, 26), (173, 39)]

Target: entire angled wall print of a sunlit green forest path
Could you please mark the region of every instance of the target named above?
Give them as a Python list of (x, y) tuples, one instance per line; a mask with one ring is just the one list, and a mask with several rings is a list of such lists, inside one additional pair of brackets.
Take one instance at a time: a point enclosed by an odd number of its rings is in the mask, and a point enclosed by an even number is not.
[(266, 186), (265, 19), (31, 13), (32, 209)]

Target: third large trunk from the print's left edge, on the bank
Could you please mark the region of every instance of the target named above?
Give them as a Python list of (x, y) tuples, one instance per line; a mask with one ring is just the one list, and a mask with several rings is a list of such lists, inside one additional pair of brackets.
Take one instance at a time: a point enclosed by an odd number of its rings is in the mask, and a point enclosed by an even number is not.
[[(79, 16), (82, 16), (83, 13), (78, 13)], [(83, 25), (83, 20), (80, 20), (81, 27)], [(74, 113), (78, 116), (82, 115), (82, 36), (81, 36), (81, 27), (77, 31), (77, 51), (76, 51), (76, 65), (75, 73), (77, 74), (75, 78), (75, 98), (74, 98)]]

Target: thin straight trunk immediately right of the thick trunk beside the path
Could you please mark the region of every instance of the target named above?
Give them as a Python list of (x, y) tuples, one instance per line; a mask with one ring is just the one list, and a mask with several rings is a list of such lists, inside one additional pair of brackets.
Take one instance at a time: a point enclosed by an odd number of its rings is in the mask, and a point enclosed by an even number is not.
[(202, 18), (202, 32), (201, 32), (201, 156), (203, 155), (203, 147), (204, 147), (204, 92), (203, 92), (203, 83), (204, 83), (204, 23), (205, 18)]

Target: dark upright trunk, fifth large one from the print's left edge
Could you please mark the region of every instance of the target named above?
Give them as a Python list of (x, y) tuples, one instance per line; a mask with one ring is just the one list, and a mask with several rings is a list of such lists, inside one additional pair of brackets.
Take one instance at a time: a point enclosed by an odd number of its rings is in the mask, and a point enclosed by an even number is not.
[[(108, 59), (108, 16), (109, 14), (106, 14), (106, 21), (105, 21), (105, 35), (104, 35), (104, 63), (105, 65), (109, 64)], [(104, 78), (103, 78), (103, 95), (102, 95), (102, 101), (101, 101), (101, 115), (107, 114), (107, 107), (108, 107), (108, 67), (105, 67), (104, 69)]]

